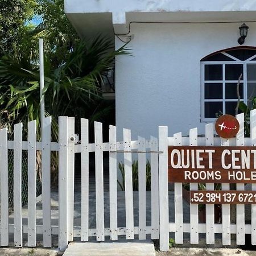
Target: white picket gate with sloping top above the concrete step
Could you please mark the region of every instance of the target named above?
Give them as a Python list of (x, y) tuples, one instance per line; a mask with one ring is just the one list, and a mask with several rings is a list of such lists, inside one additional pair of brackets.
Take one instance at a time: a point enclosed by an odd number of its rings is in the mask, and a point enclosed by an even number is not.
[[(73, 119), (59, 118), (59, 247), (65, 249), (74, 237), (88, 241), (96, 237), (104, 241), (105, 237), (118, 240), (125, 235), (127, 240), (138, 235), (139, 240), (145, 240), (146, 234), (152, 239), (159, 238), (159, 169), (158, 169), (158, 139), (151, 137), (148, 141), (138, 137), (131, 141), (131, 131), (123, 129), (123, 141), (117, 142), (115, 126), (109, 127), (109, 142), (102, 141), (102, 123), (94, 122), (94, 143), (89, 143), (88, 120), (81, 119), (81, 141), (75, 144), (73, 134)], [(103, 152), (109, 152), (109, 227), (104, 220), (104, 172)], [(89, 228), (89, 152), (95, 153), (96, 179), (96, 229)], [(146, 225), (146, 153), (151, 164), (151, 225)], [(73, 226), (74, 205), (74, 155), (81, 153), (81, 226)], [(118, 226), (117, 221), (117, 155), (123, 154), (125, 166), (125, 226)], [(134, 226), (132, 154), (138, 157), (139, 174), (139, 225)], [(168, 184), (167, 184), (168, 185)], [(66, 214), (68, 213), (68, 214)]]

